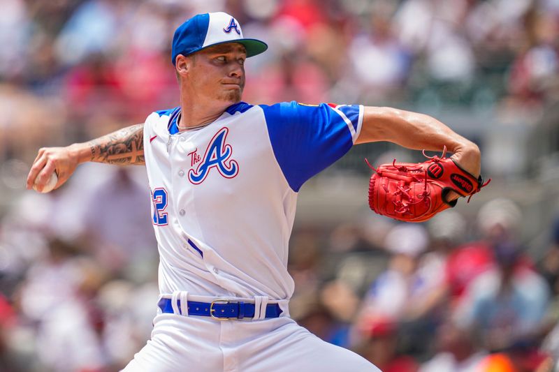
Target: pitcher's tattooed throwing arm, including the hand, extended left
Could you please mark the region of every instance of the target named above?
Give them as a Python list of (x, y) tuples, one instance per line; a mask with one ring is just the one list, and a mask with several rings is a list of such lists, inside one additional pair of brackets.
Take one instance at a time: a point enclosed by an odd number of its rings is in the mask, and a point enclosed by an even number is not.
[(52, 172), (57, 172), (59, 188), (81, 163), (93, 161), (117, 165), (144, 165), (144, 124), (119, 129), (89, 142), (71, 144), (68, 147), (45, 147), (38, 151), (29, 175), (27, 188), (36, 182), (42, 190)]

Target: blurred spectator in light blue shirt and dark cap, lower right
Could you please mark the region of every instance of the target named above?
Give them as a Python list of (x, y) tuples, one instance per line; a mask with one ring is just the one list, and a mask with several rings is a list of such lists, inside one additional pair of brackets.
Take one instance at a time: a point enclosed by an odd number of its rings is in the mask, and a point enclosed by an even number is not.
[(495, 245), (496, 266), (474, 280), (456, 309), (460, 327), (475, 327), (488, 350), (533, 343), (541, 332), (549, 288), (510, 242)]

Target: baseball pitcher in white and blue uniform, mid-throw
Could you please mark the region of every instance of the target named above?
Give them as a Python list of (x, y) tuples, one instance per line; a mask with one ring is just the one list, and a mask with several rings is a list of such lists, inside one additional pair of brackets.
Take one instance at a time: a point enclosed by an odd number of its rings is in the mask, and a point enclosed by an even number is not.
[[(242, 102), (245, 60), (267, 47), (245, 38), (231, 15), (196, 15), (173, 37), (179, 107), (91, 142), (38, 151), (27, 179), (38, 191), (53, 173), (61, 186), (86, 161), (147, 168), (160, 298), (151, 339), (124, 371), (379, 371), (289, 317), (287, 253), (300, 187), (354, 144), (390, 141), (453, 155), (435, 161), (441, 168), (395, 164), (391, 179), (372, 185), (386, 194), (376, 199), (379, 212), (412, 221), (479, 190), (478, 147), (432, 117), (389, 107)], [(435, 177), (424, 175), (429, 169)], [(398, 172), (408, 180), (393, 181)], [(445, 186), (450, 175), (426, 183), (444, 172), (463, 172), (472, 187)], [(417, 200), (433, 207), (418, 212)]]

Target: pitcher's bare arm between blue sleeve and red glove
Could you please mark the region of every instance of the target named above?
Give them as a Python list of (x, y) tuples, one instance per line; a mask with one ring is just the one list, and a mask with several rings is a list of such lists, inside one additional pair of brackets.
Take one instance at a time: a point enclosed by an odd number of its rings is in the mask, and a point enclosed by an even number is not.
[(477, 144), (426, 114), (391, 107), (364, 107), (361, 133), (355, 144), (378, 141), (428, 151), (442, 151), (446, 146), (461, 168), (475, 177), (481, 172), (481, 154)]

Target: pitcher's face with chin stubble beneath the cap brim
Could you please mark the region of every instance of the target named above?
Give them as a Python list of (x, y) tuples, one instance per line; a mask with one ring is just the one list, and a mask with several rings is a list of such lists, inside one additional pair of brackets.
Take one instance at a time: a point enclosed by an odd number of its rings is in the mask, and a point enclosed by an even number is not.
[(245, 88), (247, 52), (239, 43), (214, 45), (196, 52), (191, 59), (187, 84), (196, 100), (216, 104), (238, 103)]

